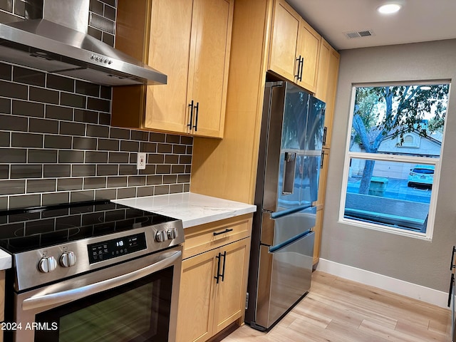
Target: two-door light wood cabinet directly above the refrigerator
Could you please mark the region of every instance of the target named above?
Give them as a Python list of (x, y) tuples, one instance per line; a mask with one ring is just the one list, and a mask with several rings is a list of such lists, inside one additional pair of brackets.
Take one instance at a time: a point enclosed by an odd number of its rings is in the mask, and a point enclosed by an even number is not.
[(286, 1), (274, 2), (269, 70), (315, 93), (320, 40)]

